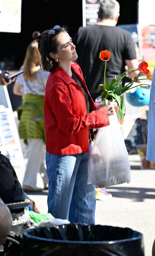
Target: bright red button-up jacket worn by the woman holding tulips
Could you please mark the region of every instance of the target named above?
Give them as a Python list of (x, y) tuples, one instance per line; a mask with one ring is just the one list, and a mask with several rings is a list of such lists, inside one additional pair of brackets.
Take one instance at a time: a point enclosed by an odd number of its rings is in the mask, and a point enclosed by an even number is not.
[[(75, 62), (71, 69), (87, 90), (82, 71)], [(57, 67), (48, 76), (44, 98), (46, 150), (55, 155), (72, 155), (89, 151), (89, 129), (109, 125), (104, 108), (95, 110), (90, 93), (90, 113), (80, 86)]]

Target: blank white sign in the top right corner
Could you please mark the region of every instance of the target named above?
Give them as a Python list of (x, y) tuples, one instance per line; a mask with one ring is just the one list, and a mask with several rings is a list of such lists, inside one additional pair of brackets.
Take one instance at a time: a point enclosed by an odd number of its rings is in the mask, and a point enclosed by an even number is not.
[(155, 0), (139, 0), (138, 23), (140, 25), (155, 25)]

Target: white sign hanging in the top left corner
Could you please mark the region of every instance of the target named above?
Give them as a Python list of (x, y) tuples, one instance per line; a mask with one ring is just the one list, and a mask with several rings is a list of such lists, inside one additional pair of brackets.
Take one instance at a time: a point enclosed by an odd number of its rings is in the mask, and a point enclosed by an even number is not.
[(0, 31), (20, 33), (22, 0), (0, 1)]

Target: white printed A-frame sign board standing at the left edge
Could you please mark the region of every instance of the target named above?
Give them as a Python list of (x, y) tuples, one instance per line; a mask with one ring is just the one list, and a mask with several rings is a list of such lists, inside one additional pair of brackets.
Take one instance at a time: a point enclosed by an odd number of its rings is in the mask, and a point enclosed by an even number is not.
[(14, 113), (5, 86), (0, 86), (0, 151), (9, 158), (13, 166), (25, 166)]

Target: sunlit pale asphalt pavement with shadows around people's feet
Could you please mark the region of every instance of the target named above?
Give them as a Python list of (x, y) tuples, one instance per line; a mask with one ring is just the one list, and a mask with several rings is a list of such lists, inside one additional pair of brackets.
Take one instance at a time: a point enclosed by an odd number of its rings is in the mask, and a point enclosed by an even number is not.
[[(141, 169), (139, 155), (129, 155), (131, 182), (110, 186), (106, 189), (112, 198), (96, 201), (96, 225), (128, 227), (143, 234), (145, 256), (151, 256), (155, 239), (155, 169)], [(23, 182), (25, 167), (14, 166), (20, 183)], [(38, 187), (43, 187), (40, 175), (37, 176)], [(40, 213), (47, 208), (47, 190), (41, 193), (28, 193), (35, 201)], [(131, 255), (132, 256), (132, 255)], [(138, 255), (137, 255), (138, 256)]]

